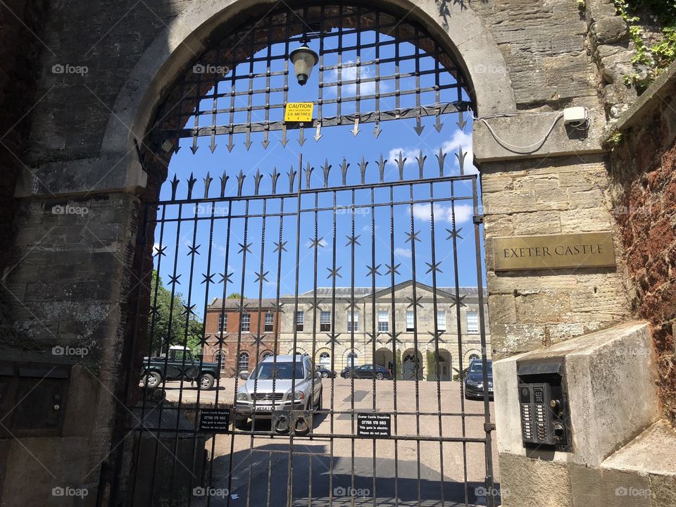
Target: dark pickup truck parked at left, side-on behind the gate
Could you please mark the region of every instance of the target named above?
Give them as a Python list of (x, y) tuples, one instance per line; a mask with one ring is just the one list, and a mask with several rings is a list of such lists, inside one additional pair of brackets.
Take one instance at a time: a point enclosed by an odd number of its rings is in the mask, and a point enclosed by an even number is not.
[(196, 380), (200, 389), (211, 389), (218, 376), (216, 363), (195, 361), (189, 349), (172, 345), (168, 356), (144, 357), (141, 377), (144, 386), (154, 389), (165, 380)]

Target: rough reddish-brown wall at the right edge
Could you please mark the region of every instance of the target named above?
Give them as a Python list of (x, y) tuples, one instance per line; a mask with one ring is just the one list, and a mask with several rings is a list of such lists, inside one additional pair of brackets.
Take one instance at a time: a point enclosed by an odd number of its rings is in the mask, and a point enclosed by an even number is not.
[(676, 67), (620, 118), (615, 140), (615, 218), (632, 309), (652, 324), (663, 413), (676, 425)]

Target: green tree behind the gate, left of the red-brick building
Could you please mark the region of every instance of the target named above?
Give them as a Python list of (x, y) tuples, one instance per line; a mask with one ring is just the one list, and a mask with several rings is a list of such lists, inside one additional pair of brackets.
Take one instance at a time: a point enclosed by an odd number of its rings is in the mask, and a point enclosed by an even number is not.
[[(157, 299), (155, 299), (156, 290)], [(163, 353), (170, 345), (183, 344), (186, 344), (194, 355), (201, 353), (204, 324), (192, 314), (186, 320), (183, 295), (176, 292), (172, 299), (171, 291), (164, 286), (162, 278), (155, 270), (150, 296), (151, 304), (154, 301), (156, 310), (148, 315), (148, 332), (152, 333), (153, 337), (151, 353)]]

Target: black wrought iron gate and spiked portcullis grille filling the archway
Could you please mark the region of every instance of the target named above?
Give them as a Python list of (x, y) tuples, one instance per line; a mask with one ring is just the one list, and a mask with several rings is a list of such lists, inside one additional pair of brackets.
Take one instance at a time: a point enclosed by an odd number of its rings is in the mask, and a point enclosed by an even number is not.
[[(301, 39), (318, 41), (318, 115), (289, 125), (275, 113), (289, 101), (290, 44)], [(249, 72), (238, 75), (242, 65)], [(154, 135), (164, 151), (192, 138), (193, 154), (206, 137), (215, 154), (218, 136), (228, 151), (242, 137), (249, 151), (258, 135), (266, 150), (275, 131), (286, 146), (298, 130), (303, 146), (307, 127), (320, 142), (323, 127), (351, 125), (356, 136), (373, 123), (377, 139), (394, 119), (415, 120), (420, 136), (427, 115), (439, 132), (442, 115), (457, 114), (462, 131), (471, 104), (463, 84), (420, 25), (360, 6), (286, 8), (201, 56)], [(401, 152), (333, 163), (297, 154), (285, 174), (258, 165), (215, 181), (175, 176), (146, 205), (157, 276), (142, 396), (130, 406), (130, 505), (496, 504), (477, 176), (465, 174), (462, 147), (454, 163), (448, 155), (439, 149), (433, 165), (423, 150), (413, 164)], [(472, 351), (482, 382), (472, 387), (478, 400), (466, 401)]]

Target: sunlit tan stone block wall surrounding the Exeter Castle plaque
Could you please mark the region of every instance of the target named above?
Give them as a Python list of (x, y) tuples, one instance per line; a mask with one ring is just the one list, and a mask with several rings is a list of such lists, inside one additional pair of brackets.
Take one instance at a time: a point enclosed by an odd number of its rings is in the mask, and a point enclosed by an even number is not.
[[(615, 230), (607, 188), (605, 158), (600, 155), (482, 164), (496, 358), (556, 344), (628, 317), (622, 268), (493, 270), (493, 237)], [(621, 249), (616, 242), (620, 265)]]

